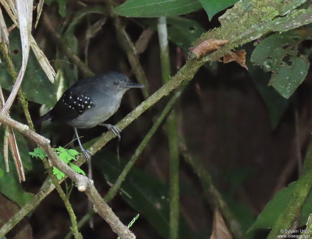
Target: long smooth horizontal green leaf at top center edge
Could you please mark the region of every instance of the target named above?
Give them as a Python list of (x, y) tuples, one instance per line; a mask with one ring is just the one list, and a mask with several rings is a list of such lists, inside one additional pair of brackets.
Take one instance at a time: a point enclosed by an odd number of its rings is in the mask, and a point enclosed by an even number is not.
[(113, 12), (121, 16), (159, 17), (177, 16), (201, 8), (202, 5), (199, 0), (128, 0), (113, 8)]

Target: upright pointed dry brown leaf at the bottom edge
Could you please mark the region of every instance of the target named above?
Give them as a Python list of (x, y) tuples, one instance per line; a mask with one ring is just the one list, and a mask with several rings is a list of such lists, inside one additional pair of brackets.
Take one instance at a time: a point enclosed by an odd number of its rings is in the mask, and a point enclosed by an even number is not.
[(222, 215), (217, 209), (213, 214), (212, 234), (210, 239), (232, 239), (230, 232), (227, 230), (227, 225), (225, 225)]

